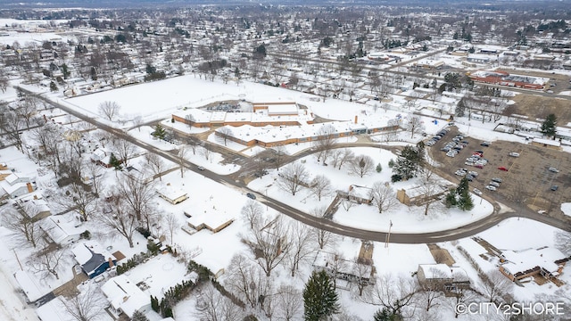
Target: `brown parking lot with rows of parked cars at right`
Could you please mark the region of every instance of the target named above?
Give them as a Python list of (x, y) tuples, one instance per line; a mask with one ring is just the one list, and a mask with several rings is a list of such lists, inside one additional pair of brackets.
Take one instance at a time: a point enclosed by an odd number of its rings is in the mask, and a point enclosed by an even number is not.
[[(468, 142), (467, 146), (455, 157), (446, 156), (447, 152), (441, 151), (441, 148), (457, 135), (464, 136), (461, 141)], [(459, 133), (457, 128), (451, 127), (448, 134), (429, 147), (430, 155), (434, 161), (443, 164), (441, 169), (453, 177), (451, 178), (453, 183), (458, 184), (461, 179), (461, 176), (454, 175), (458, 169), (476, 171), (478, 176), (469, 183), (470, 191), (477, 188), (484, 194), (500, 202), (509, 203), (511, 206), (525, 204), (535, 211), (545, 210), (553, 216), (561, 215), (559, 204), (571, 202), (571, 155), (569, 153), (507, 141), (491, 142), (488, 147), (481, 146), (482, 143), (483, 141)], [(482, 169), (465, 164), (467, 158), (472, 156), (476, 150), (483, 151), (483, 158), (488, 161)], [(509, 156), (510, 152), (516, 152), (519, 156)], [(498, 169), (500, 167), (507, 171)], [(558, 169), (559, 172), (550, 171), (550, 168)], [(501, 184), (496, 191), (484, 188), (490, 184), (492, 178), (501, 179)], [(553, 185), (558, 186), (556, 191), (551, 190)]]

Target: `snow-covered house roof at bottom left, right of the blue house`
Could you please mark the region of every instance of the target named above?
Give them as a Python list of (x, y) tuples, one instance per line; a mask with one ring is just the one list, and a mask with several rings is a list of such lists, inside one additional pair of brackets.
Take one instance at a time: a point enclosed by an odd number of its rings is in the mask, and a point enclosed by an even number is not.
[(101, 291), (114, 309), (121, 309), (128, 317), (151, 304), (151, 297), (125, 275), (112, 277), (103, 284)]

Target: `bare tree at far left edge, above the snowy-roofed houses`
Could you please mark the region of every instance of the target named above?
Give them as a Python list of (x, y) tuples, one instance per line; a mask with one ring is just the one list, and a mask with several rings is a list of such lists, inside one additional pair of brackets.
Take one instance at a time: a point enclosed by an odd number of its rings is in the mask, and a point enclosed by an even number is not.
[(7, 208), (4, 210), (2, 225), (13, 232), (18, 233), (33, 247), (36, 247), (42, 238), (42, 231), (34, 217), (37, 208), (31, 202), (21, 203), (19, 208)]

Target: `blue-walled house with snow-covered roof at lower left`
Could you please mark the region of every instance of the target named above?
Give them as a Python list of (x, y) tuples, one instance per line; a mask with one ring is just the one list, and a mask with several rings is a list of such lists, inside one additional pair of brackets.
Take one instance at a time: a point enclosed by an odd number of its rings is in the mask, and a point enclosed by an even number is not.
[(105, 251), (100, 243), (95, 241), (80, 243), (71, 251), (81, 269), (89, 278), (99, 276), (107, 268), (112, 268), (117, 264), (117, 259), (111, 253)]

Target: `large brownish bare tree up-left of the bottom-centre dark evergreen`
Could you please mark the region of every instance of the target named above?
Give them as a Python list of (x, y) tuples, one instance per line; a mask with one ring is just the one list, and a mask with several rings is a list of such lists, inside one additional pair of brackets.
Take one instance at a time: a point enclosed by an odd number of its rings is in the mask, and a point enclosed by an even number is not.
[(259, 222), (258, 226), (254, 226), (244, 236), (245, 243), (256, 253), (256, 262), (266, 276), (270, 276), (271, 271), (285, 259), (289, 251), (288, 234), (289, 226), (280, 214), (276, 218)]

